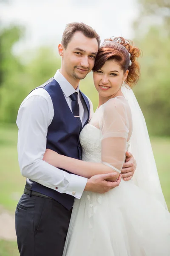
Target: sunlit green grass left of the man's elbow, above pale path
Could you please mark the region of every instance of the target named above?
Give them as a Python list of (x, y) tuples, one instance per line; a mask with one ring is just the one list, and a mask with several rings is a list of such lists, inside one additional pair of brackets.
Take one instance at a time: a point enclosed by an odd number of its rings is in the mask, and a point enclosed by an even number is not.
[(13, 211), (23, 193), (25, 177), (17, 160), (17, 127), (0, 125), (0, 205)]

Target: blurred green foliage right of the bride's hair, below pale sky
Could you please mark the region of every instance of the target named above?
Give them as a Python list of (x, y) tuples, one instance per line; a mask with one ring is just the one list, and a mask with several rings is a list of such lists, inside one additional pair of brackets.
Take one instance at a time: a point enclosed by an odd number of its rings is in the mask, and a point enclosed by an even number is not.
[(170, 37), (151, 27), (136, 44), (142, 49), (141, 78), (134, 88), (152, 135), (170, 135)]

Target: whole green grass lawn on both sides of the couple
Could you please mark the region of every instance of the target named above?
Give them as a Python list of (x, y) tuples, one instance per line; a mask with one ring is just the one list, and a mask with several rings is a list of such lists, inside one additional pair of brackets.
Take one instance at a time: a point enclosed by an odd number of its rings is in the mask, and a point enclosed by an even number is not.
[[(151, 138), (162, 190), (170, 210), (170, 138)], [(0, 206), (14, 212), (26, 179), (17, 160), (17, 127), (0, 125)], [(0, 241), (0, 256), (18, 256), (17, 243)]]

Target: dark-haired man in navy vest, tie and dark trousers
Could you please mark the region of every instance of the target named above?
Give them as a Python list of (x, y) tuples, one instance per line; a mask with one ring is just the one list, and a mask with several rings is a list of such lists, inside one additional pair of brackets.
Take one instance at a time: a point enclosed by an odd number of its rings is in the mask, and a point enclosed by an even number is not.
[[(79, 133), (93, 115), (93, 106), (79, 90), (79, 80), (94, 67), (99, 35), (83, 23), (66, 26), (58, 51), (61, 69), (54, 78), (33, 90), (17, 116), (18, 160), (27, 178), (16, 209), (20, 256), (62, 256), (74, 198), (82, 192), (105, 193), (119, 186), (95, 175), (90, 179), (71, 174), (43, 161), (46, 148), (81, 160)], [(123, 177), (133, 175), (135, 160), (129, 154)]]

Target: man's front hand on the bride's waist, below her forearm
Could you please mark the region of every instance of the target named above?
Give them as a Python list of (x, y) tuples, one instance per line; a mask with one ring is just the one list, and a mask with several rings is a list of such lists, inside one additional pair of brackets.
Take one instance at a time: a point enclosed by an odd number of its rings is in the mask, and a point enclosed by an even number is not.
[(116, 186), (119, 186), (119, 183), (121, 181), (121, 175), (119, 175), (118, 179), (116, 181), (106, 181), (106, 179), (112, 179), (115, 177), (116, 179), (116, 173), (108, 173), (108, 174), (99, 174), (94, 175), (90, 179), (88, 179), (87, 184), (85, 186), (85, 191), (91, 191), (95, 193), (105, 193), (108, 192), (110, 189), (115, 188)]

